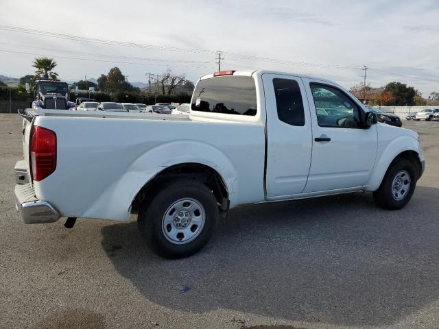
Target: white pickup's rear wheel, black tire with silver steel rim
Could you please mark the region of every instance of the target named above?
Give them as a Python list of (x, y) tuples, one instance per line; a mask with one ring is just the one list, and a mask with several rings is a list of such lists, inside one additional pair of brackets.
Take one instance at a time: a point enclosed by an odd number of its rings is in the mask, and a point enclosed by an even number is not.
[(155, 254), (183, 258), (206, 245), (217, 221), (218, 204), (212, 191), (195, 180), (178, 180), (140, 206), (137, 223)]

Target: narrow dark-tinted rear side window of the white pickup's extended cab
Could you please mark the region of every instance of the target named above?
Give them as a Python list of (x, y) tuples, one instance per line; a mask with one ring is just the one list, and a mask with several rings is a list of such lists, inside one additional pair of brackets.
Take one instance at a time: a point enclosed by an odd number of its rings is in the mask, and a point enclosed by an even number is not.
[(305, 125), (302, 95), (295, 80), (273, 79), (277, 117), (289, 125)]

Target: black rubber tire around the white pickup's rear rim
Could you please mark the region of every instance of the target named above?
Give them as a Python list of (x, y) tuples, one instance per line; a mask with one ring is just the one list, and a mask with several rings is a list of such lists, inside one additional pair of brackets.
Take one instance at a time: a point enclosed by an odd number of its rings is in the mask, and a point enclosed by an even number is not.
[[(213, 232), (215, 232), (219, 217), (215, 196), (204, 184), (189, 179), (165, 184), (158, 191), (149, 202), (145, 202), (139, 207), (137, 224), (147, 245), (150, 246), (154, 254), (163, 258), (184, 258), (195, 254), (206, 245), (209, 239), (211, 239)], [(168, 239), (170, 238), (165, 236), (164, 230), (168, 226), (165, 226), (163, 221), (165, 212), (172, 211), (169, 208), (175, 202), (185, 198), (193, 199), (198, 202), (198, 205), (202, 206), (204, 210), (204, 226), (202, 226), (198, 236), (195, 236), (193, 240), (187, 243), (181, 242), (183, 244), (176, 244), (169, 241)], [(172, 221), (168, 225), (175, 226), (176, 224)], [(172, 227), (172, 229), (178, 230), (176, 227)]]

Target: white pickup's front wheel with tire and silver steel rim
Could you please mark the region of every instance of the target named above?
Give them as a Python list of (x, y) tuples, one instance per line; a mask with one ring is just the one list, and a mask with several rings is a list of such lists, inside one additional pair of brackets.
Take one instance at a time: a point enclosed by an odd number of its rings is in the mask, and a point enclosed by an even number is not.
[(373, 193), (375, 203), (389, 210), (403, 208), (412, 198), (417, 179), (412, 162), (405, 159), (396, 160), (385, 173), (377, 191)]

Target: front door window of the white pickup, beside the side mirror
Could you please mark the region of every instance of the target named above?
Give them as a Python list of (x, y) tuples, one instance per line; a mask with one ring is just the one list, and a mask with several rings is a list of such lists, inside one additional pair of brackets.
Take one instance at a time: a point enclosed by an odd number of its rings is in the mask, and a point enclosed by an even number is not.
[(360, 127), (358, 106), (342, 91), (322, 84), (310, 84), (320, 127)]

